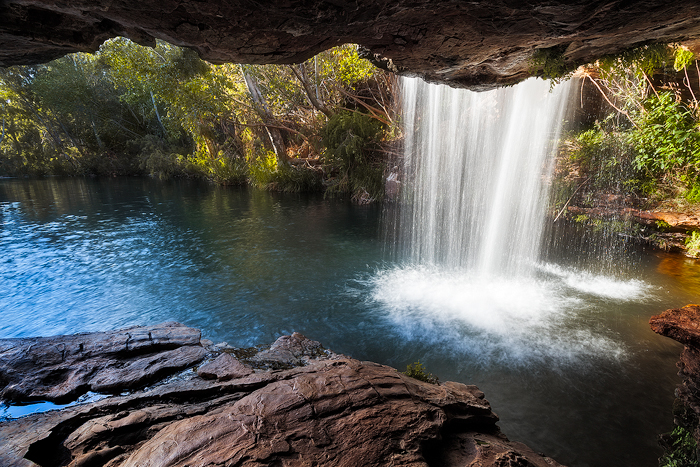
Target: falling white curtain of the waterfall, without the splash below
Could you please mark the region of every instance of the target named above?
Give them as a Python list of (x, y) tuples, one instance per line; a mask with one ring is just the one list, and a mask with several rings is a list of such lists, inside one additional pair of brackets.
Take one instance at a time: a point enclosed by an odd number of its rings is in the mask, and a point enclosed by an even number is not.
[(568, 85), (470, 92), (402, 81), (400, 243), (413, 264), (531, 274)]

